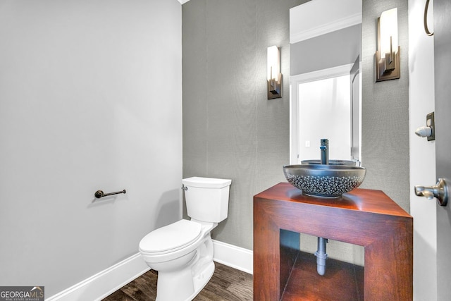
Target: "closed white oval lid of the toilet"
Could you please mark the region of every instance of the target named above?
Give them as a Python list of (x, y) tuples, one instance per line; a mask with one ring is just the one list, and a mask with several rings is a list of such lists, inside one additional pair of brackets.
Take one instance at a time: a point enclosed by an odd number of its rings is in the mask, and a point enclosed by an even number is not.
[(142, 238), (140, 250), (164, 252), (190, 244), (200, 236), (201, 224), (182, 219), (168, 226), (158, 228)]

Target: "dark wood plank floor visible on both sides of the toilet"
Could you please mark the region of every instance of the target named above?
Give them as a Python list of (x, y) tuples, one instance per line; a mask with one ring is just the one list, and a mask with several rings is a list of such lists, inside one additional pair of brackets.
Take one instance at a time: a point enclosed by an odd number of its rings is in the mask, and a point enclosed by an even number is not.
[[(216, 269), (209, 283), (194, 298), (195, 301), (252, 300), (252, 275), (215, 262)], [(116, 290), (104, 301), (154, 301), (156, 271), (150, 270)]]

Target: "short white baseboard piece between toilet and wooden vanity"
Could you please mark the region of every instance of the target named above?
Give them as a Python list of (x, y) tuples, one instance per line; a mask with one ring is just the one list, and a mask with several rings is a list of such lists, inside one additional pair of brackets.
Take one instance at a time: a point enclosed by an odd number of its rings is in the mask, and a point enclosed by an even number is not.
[(225, 264), (233, 269), (245, 271), (246, 273), (254, 273), (254, 256), (251, 250), (235, 245), (229, 245), (226, 242), (213, 240), (215, 262)]

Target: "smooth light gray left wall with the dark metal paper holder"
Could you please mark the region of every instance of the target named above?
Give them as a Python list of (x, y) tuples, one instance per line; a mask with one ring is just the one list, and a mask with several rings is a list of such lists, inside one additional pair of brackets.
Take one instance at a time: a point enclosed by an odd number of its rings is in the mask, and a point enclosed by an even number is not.
[(51, 297), (180, 218), (181, 14), (176, 0), (0, 1), (0, 285)]

